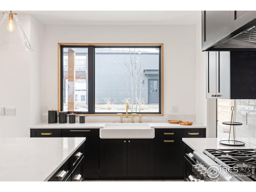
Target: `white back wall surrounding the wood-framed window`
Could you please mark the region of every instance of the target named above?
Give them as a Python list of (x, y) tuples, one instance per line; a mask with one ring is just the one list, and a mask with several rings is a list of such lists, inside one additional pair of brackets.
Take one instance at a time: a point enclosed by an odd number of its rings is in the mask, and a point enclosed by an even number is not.
[(58, 43), (164, 43), (164, 114), (195, 115), (195, 37), (195, 25), (45, 25), (42, 104), (57, 108)]

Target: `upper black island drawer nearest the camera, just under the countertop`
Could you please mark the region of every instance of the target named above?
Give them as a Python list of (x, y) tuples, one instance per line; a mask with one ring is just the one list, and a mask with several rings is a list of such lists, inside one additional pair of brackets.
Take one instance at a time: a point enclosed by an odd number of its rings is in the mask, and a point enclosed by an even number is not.
[(54, 173), (49, 181), (66, 181), (72, 172), (71, 158), (69, 158), (60, 169)]

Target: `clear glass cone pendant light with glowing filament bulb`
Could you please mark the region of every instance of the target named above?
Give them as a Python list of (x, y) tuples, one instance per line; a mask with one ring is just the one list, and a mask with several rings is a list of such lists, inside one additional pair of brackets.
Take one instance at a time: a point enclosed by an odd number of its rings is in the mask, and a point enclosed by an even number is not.
[(18, 20), (17, 13), (4, 12), (4, 18), (0, 22), (0, 48), (19, 52), (32, 51), (28, 42), (28, 38), (24, 33), (20, 21)]

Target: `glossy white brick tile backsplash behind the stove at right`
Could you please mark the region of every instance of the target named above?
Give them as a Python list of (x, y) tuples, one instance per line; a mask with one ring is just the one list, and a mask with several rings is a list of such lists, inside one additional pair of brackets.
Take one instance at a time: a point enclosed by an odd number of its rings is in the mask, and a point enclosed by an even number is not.
[(242, 122), (243, 114), (247, 113), (247, 124), (236, 127), (236, 137), (250, 141), (256, 138), (256, 99), (235, 100), (235, 121)]

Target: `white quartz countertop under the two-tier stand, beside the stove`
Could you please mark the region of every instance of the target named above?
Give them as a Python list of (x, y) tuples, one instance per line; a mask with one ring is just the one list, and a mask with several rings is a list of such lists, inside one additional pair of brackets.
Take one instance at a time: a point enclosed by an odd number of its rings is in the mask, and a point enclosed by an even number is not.
[[(204, 149), (245, 149), (256, 148), (253, 143), (245, 142), (245, 146), (226, 146), (219, 143), (220, 140), (226, 140), (222, 138), (182, 138), (182, 141), (186, 143), (194, 151), (203, 152)], [(238, 140), (238, 139), (236, 139)]]

